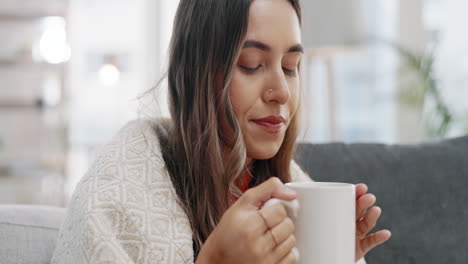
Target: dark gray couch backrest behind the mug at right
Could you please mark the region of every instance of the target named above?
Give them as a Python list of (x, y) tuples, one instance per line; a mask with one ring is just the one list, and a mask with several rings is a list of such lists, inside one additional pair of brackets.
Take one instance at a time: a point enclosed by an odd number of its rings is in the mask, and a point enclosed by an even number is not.
[(420, 145), (302, 144), (316, 181), (366, 183), (392, 238), (369, 264), (468, 263), (468, 137)]

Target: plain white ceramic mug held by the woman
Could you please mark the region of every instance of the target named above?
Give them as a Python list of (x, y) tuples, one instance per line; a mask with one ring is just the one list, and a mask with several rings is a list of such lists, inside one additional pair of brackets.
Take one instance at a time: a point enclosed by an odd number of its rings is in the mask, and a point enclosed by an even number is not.
[(294, 182), (297, 201), (281, 202), (296, 226), (302, 264), (354, 264), (356, 243), (356, 187), (333, 182)]

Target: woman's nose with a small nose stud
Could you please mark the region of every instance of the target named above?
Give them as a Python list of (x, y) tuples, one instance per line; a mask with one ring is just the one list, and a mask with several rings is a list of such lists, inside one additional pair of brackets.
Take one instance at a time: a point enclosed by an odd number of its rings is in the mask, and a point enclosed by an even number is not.
[(283, 69), (272, 71), (268, 76), (263, 100), (267, 103), (274, 102), (278, 104), (286, 104), (291, 96), (289, 86), (286, 81)]

